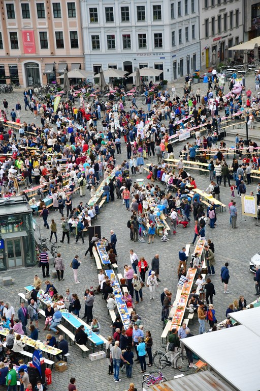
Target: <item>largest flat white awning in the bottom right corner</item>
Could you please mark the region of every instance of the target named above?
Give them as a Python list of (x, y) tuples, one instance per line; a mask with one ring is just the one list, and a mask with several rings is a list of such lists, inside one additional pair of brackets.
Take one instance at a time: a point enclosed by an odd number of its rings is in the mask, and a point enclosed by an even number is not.
[(184, 338), (182, 343), (239, 391), (259, 391), (260, 338), (245, 326)]

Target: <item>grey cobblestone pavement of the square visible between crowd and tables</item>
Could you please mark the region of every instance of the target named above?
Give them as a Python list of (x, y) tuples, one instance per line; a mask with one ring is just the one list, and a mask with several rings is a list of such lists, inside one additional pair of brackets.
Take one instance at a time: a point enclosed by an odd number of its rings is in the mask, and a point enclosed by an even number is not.
[[(246, 78), (247, 88), (250, 87), (251, 91), (254, 91), (254, 79), (252, 74)], [(183, 81), (175, 83), (177, 92), (181, 94), (182, 92)], [(202, 92), (206, 92), (207, 85), (199, 85)], [(193, 90), (196, 91), (197, 87), (194, 85)], [(169, 86), (170, 90), (170, 86)], [(228, 92), (228, 87), (225, 87), (226, 93)], [(17, 100), (20, 100), (22, 105), (21, 111), (21, 120), (25, 120), (27, 123), (34, 120), (33, 115), (29, 111), (24, 111), (23, 105), (23, 90), (15, 91), (13, 94), (7, 96), (0, 96), (0, 107), (3, 107), (4, 97), (9, 102), (9, 113)], [(141, 107), (141, 102), (137, 99), (138, 107)], [(127, 103), (127, 108), (129, 108), (129, 102)], [(223, 113), (223, 112), (222, 112)], [(39, 119), (36, 120), (36, 123), (40, 125)], [(98, 126), (101, 126), (100, 124)], [(239, 132), (239, 130), (238, 130)], [(233, 143), (229, 142), (228, 145), (231, 146)], [(181, 145), (178, 145), (174, 148), (175, 157), (178, 157), (179, 151), (181, 150)], [(124, 144), (122, 139), (122, 155), (120, 158), (126, 159), (126, 150), (124, 150)], [(118, 160), (117, 163), (120, 163), (121, 160)], [(153, 159), (146, 160), (145, 162), (153, 162)], [(154, 160), (155, 162), (155, 160)], [(196, 178), (197, 186), (200, 189), (206, 189), (209, 184), (209, 177), (199, 176), (197, 172), (191, 171), (191, 175)], [(136, 178), (143, 177), (146, 175), (142, 174)], [(134, 180), (134, 178), (133, 178)], [(147, 181), (145, 179), (145, 181)], [(134, 182), (134, 181), (133, 181)], [(156, 183), (156, 182), (155, 182)], [(220, 186), (221, 192), (220, 197), (221, 201), (228, 205), (231, 200), (231, 191), (229, 187), (223, 187), (223, 184)], [(250, 190), (255, 192), (256, 182), (253, 182), (251, 185), (247, 186), (249, 193)], [(88, 190), (87, 190), (88, 191)], [(90, 198), (89, 192), (84, 197), (80, 199), (79, 195), (74, 195), (73, 205), (78, 205), (79, 201), (88, 201)], [(212, 282), (215, 285), (216, 296), (213, 298), (213, 303), (216, 310), (216, 318), (218, 321), (225, 318), (225, 311), (228, 308), (228, 305), (234, 301), (235, 298), (239, 298), (239, 295), (244, 295), (247, 300), (247, 303), (252, 302), (255, 299), (254, 293), (254, 282), (253, 275), (248, 270), (248, 261), (250, 257), (255, 254), (258, 248), (258, 230), (259, 228), (255, 226), (255, 220), (246, 217), (246, 219), (241, 217), (241, 202), (240, 199), (236, 197), (237, 207), (238, 207), (238, 230), (232, 230), (229, 223), (229, 212), (226, 210), (224, 213), (217, 213), (217, 227), (215, 231), (210, 232), (209, 226), (207, 226), (206, 235), (207, 238), (211, 239), (215, 245), (215, 259), (216, 259), (216, 275), (212, 277)], [(183, 245), (190, 243), (193, 239), (193, 216), (191, 218), (191, 225), (183, 231), (179, 227), (177, 229), (177, 235), (170, 235), (170, 240), (168, 243), (160, 242), (158, 237), (155, 237), (154, 244), (150, 246), (147, 243), (133, 243), (129, 239), (129, 231), (126, 227), (126, 222), (129, 218), (130, 212), (127, 212), (125, 207), (122, 205), (121, 200), (115, 200), (113, 203), (110, 202), (106, 208), (102, 209), (101, 214), (98, 216), (98, 220), (94, 220), (94, 225), (101, 225), (102, 236), (109, 237), (110, 230), (113, 229), (117, 235), (117, 263), (119, 266), (118, 271), (123, 271), (124, 264), (129, 264), (129, 249), (134, 248), (134, 251), (139, 257), (144, 256), (148, 264), (151, 264), (151, 260), (154, 257), (154, 254), (159, 254), (160, 260), (160, 280), (158, 289), (156, 289), (155, 300), (149, 300), (148, 288), (144, 288), (144, 301), (140, 302), (137, 305), (138, 314), (142, 317), (142, 323), (144, 325), (144, 330), (150, 330), (153, 338), (153, 352), (158, 350), (161, 347), (160, 335), (163, 331), (162, 323), (160, 320), (161, 314), (161, 303), (160, 303), (160, 293), (163, 292), (165, 287), (169, 288), (173, 292), (173, 298), (176, 295), (177, 291), (177, 267), (178, 267), (178, 252)], [(61, 239), (61, 221), (60, 214), (58, 212), (51, 211), (48, 220), (54, 218), (58, 226), (58, 241)], [(36, 218), (38, 224), (43, 226), (41, 218)], [(42, 228), (43, 237), (48, 237), (50, 231), (44, 232), (45, 228)], [(71, 292), (76, 292), (79, 295), (79, 298), (82, 302), (82, 308), (80, 315), (83, 316), (84, 311), (84, 301), (83, 294), (85, 288), (90, 286), (97, 285), (97, 270), (93, 260), (90, 260), (89, 254), (85, 258), (84, 253), (87, 246), (87, 238), (85, 244), (82, 245), (79, 241), (77, 244), (73, 243), (71, 240), (70, 245), (64, 242), (62, 247), (59, 249), (61, 256), (63, 258), (64, 264), (66, 265), (66, 270), (64, 272), (65, 281), (58, 282), (57, 280), (53, 281), (55, 287), (57, 288), (60, 294), (64, 294), (66, 288), (69, 287)], [(60, 243), (59, 243), (60, 244)], [(192, 248), (192, 247), (191, 247)], [(79, 258), (82, 260), (82, 265), (80, 266), (80, 285), (75, 285), (72, 269), (70, 268), (70, 262), (73, 259), (74, 255), (78, 254)], [(229, 262), (230, 266), (230, 294), (224, 295), (223, 286), (220, 281), (220, 269), (224, 262)], [(23, 287), (31, 284), (34, 274), (38, 272), (42, 277), (41, 269), (28, 268), (28, 269), (19, 269), (19, 270), (9, 270), (5, 273), (2, 273), (3, 276), (11, 275), (14, 278), (14, 285), (12, 287), (1, 287), (1, 299), (8, 300), (12, 303), (17, 313), (19, 308), (19, 292), (24, 292)], [(94, 317), (98, 318), (101, 323), (101, 334), (104, 337), (108, 337), (111, 334), (111, 319), (107, 314), (107, 308), (104, 300), (102, 300), (101, 295), (96, 295), (95, 303), (93, 308)], [(45, 339), (46, 332), (43, 331), (44, 321), (43, 319), (39, 322), (40, 333), (39, 338), (41, 340)], [(196, 317), (194, 320), (194, 325), (190, 325), (191, 332), (194, 334), (199, 333), (199, 323)], [(209, 326), (206, 326), (206, 329), (209, 329)], [(115, 391), (122, 391), (128, 389), (129, 379), (125, 377), (125, 374), (120, 374), (122, 381), (120, 383), (114, 383), (112, 376), (108, 375), (107, 360), (102, 359), (98, 361), (90, 361), (89, 358), (82, 358), (81, 350), (77, 346), (72, 346), (69, 348), (70, 357), (68, 359), (69, 369), (63, 373), (53, 371), (52, 374), (52, 385), (48, 387), (49, 391), (56, 391), (57, 388), (60, 390), (67, 390), (70, 377), (76, 377), (77, 389), (83, 391), (83, 389), (108, 389)], [(90, 351), (91, 352), (91, 351)], [(134, 353), (135, 354), (135, 353)], [(148, 369), (148, 368), (147, 368)], [(155, 367), (150, 368), (151, 370), (156, 370)], [(138, 390), (141, 390), (142, 374), (139, 373), (140, 365), (134, 364), (133, 366), (133, 379), (131, 379)], [(176, 373), (177, 372), (177, 373)], [(174, 375), (179, 374), (177, 370), (165, 369), (163, 370), (164, 375), (168, 379), (172, 379)], [(57, 387), (58, 386), (58, 387)]]

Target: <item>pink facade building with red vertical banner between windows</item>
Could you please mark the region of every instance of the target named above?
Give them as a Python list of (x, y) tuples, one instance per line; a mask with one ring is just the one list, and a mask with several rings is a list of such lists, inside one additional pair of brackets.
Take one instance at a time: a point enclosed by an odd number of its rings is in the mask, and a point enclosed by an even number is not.
[(83, 66), (79, 0), (3, 0), (0, 83), (28, 87)]

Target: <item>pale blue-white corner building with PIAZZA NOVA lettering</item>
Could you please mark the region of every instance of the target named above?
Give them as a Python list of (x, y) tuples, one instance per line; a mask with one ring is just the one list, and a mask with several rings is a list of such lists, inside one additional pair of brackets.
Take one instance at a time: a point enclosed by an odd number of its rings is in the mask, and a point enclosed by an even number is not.
[(154, 67), (169, 81), (200, 69), (198, 0), (80, 4), (85, 69)]

